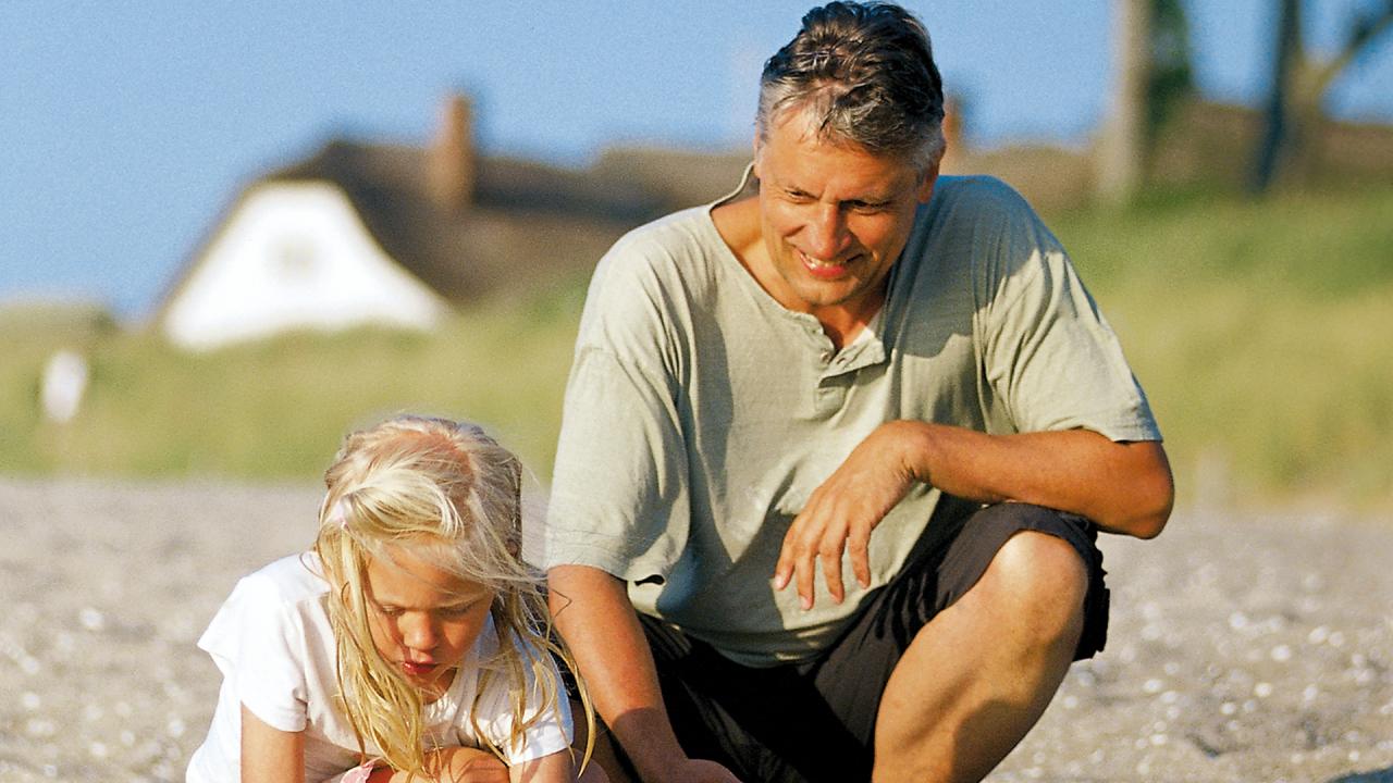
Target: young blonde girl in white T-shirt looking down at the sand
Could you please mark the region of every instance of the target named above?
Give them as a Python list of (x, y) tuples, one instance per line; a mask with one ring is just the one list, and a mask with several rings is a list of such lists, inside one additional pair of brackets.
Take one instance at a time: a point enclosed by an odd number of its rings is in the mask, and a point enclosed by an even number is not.
[(469, 424), (350, 435), (313, 550), (242, 578), (198, 642), (223, 687), (188, 780), (574, 780), (521, 472)]

